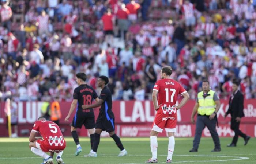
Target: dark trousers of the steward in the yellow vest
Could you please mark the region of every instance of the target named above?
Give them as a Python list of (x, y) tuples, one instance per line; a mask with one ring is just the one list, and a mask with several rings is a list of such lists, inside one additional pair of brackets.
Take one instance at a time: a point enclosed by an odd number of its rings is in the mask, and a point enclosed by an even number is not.
[(216, 131), (216, 119), (210, 120), (209, 117), (207, 116), (199, 116), (199, 115), (197, 116), (197, 119), (196, 119), (196, 133), (195, 133), (195, 138), (193, 140), (193, 149), (198, 149), (202, 132), (205, 126), (209, 129), (211, 133), (211, 137), (214, 142), (214, 147), (217, 149), (220, 149), (221, 144), (219, 142), (219, 135)]

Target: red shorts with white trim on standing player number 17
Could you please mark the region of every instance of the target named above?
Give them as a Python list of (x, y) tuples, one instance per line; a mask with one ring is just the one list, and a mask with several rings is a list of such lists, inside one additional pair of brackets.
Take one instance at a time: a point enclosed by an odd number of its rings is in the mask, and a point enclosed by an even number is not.
[(165, 128), (166, 132), (176, 132), (176, 114), (156, 114), (155, 120), (152, 124), (152, 130), (156, 132), (163, 132)]

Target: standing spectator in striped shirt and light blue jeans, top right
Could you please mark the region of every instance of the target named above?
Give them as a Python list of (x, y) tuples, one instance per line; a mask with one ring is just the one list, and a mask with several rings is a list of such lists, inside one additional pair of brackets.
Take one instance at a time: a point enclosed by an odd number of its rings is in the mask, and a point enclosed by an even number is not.
[(189, 0), (185, 0), (184, 4), (182, 5), (181, 11), (183, 13), (185, 24), (187, 27), (195, 26), (196, 24), (196, 17), (195, 17), (195, 7)]

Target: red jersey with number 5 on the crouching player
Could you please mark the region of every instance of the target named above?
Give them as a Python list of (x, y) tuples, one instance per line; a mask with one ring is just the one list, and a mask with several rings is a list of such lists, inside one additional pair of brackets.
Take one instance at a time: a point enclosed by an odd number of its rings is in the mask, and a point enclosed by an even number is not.
[(63, 146), (65, 142), (59, 126), (52, 121), (36, 121), (32, 131), (39, 132), (50, 146)]

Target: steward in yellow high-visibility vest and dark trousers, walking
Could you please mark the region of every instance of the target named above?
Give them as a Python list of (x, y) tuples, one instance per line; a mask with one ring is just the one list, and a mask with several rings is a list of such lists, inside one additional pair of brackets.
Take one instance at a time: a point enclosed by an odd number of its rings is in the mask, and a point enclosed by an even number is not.
[(220, 101), (217, 93), (210, 90), (209, 81), (204, 80), (202, 83), (203, 91), (199, 92), (196, 97), (196, 104), (191, 114), (191, 122), (194, 124), (194, 116), (197, 112), (196, 132), (193, 140), (193, 148), (189, 152), (197, 152), (202, 132), (205, 126), (209, 129), (214, 141), (214, 149), (212, 152), (221, 151), (219, 135), (216, 131), (217, 112), (220, 107)]

